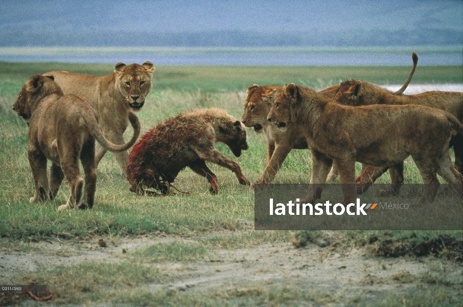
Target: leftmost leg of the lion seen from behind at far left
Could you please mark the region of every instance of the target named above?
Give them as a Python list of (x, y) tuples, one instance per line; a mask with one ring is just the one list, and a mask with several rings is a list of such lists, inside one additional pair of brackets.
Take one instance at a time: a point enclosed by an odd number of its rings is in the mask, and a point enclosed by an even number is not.
[(52, 196), (47, 177), (47, 157), (40, 150), (34, 148), (29, 149), (28, 158), (35, 183), (35, 193), (30, 202), (47, 201)]

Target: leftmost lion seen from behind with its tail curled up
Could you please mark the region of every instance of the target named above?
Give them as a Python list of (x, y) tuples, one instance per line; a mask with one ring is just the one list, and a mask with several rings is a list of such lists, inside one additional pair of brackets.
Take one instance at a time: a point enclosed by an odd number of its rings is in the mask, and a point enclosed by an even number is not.
[[(64, 95), (53, 76), (32, 76), (20, 90), (13, 110), (29, 125), (28, 158), (35, 182), (31, 202), (53, 200), (66, 176), (71, 196), (58, 210), (92, 208), (97, 184), (95, 140), (105, 150), (127, 150), (140, 135), (140, 121), (133, 112), (127, 118), (133, 127), (129, 142), (116, 145), (108, 141), (98, 125), (98, 114), (83, 96)], [(52, 162), (50, 180), (47, 159)], [(79, 159), (85, 172), (80, 176)]]

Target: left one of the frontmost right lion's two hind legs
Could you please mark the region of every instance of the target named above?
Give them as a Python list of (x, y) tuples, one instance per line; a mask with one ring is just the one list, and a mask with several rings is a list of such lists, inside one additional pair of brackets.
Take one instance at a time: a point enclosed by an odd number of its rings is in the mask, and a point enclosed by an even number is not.
[(437, 190), (439, 189), (436, 167), (429, 158), (426, 158), (426, 153), (423, 153), (418, 157), (412, 156), (412, 158), (416, 167), (420, 170), (423, 183), (425, 184), (423, 196), (421, 197), (418, 205), (429, 204), (434, 200)]

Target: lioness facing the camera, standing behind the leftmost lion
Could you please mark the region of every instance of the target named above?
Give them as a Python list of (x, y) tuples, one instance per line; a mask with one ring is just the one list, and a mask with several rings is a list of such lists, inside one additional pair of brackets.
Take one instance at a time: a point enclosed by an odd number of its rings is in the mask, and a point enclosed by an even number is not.
[[(43, 75), (54, 76), (64, 94), (80, 95), (90, 100), (100, 118), (99, 124), (104, 136), (115, 144), (124, 144), (127, 114), (142, 109), (145, 98), (151, 91), (153, 72), (153, 63), (146, 61), (142, 65), (133, 63), (128, 66), (119, 62), (115, 65), (114, 72), (106, 76), (64, 71), (52, 71)], [(97, 167), (106, 151), (97, 146)], [(114, 154), (123, 172), (127, 167), (127, 156), (127, 150)]]

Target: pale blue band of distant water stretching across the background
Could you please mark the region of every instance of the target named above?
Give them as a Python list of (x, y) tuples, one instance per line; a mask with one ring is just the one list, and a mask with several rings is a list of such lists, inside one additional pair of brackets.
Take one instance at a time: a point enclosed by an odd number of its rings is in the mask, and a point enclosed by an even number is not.
[(463, 47), (384, 48), (0, 48), (0, 61), (156, 65), (463, 65)]

